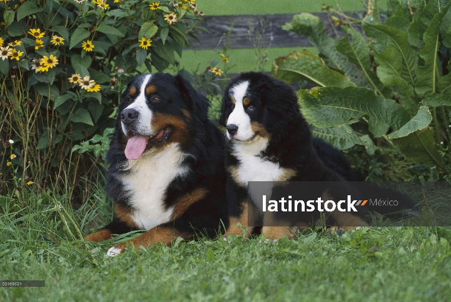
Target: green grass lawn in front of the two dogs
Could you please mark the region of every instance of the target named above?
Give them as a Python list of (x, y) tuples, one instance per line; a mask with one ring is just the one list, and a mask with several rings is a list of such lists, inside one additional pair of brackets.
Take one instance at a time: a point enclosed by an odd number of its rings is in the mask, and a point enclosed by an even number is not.
[(362, 228), (343, 236), (318, 230), (274, 245), (231, 236), (230, 242), (179, 242), (107, 258), (114, 242), (79, 241), (69, 219), (83, 236), (110, 219), (101, 186), (77, 210), (66, 195), (19, 192), (0, 197), (0, 279), (45, 280), (45, 287), (2, 287), (0, 300), (445, 301), (451, 296), (449, 228)]

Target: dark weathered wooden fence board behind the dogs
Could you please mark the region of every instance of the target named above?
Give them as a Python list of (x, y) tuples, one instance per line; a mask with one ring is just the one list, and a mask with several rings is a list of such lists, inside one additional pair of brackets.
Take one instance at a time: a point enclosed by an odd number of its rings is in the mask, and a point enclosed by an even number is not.
[[(221, 48), (227, 42), (225, 34), (230, 30), (233, 24), (233, 32), (230, 39), (234, 43), (229, 48), (253, 48), (249, 39), (250, 24), (254, 31), (251, 33), (251, 39), (255, 40), (255, 32), (262, 33), (261, 45), (265, 47), (292, 47), (292, 46), (311, 46), (308, 38), (293, 32), (282, 29), (282, 26), (292, 21), (295, 14), (283, 15), (242, 15), (242, 16), (206, 16), (202, 20), (205, 24), (201, 26), (208, 29), (207, 32), (199, 32), (198, 38), (200, 44), (194, 39), (190, 39), (194, 49), (215, 49)], [(314, 13), (323, 22), (324, 28), (330, 36), (336, 34), (343, 35), (343, 32), (336, 30), (327, 13)], [(261, 27), (263, 25), (263, 27)], [(360, 30), (360, 26), (356, 26)], [(222, 40), (221, 40), (222, 38)], [(220, 41), (220, 42), (219, 42)]]

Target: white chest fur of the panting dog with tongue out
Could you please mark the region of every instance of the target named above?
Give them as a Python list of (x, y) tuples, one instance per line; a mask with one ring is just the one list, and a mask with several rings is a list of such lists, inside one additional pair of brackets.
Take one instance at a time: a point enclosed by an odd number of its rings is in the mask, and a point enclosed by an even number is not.
[(150, 149), (138, 160), (128, 161), (130, 173), (122, 182), (131, 193), (132, 218), (139, 228), (150, 230), (170, 220), (173, 208), (164, 208), (165, 191), (174, 178), (187, 174), (184, 158), (179, 145), (173, 143), (158, 153)]

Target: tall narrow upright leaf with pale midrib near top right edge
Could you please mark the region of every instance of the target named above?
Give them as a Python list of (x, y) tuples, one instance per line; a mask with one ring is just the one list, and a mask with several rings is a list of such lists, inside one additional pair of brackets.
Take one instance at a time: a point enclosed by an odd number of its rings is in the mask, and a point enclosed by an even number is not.
[(420, 57), (424, 60), (424, 66), (418, 66), (416, 70), (418, 81), (415, 84), (415, 92), (421, 97), (437, 92), (437, 82), (442, 75), (438, 49), (440, 47), (440, 24), (448, 7), (435, 14), (423, 35), (425, 43), (420, 51)]

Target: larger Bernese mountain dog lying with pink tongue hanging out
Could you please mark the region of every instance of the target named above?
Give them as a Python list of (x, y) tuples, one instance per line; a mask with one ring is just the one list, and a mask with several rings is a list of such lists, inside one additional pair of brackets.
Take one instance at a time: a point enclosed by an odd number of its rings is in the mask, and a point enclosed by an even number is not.
[[(107, 153), (114, 217), (85, 240), (148, 230), (127, 242), (138, 248), (223, 234), (225, 146), (223, 133), (208, 120), (208, 107), (180, 75), (142, 74), (128, 84)], [(127, 243), (107, 255), (120, 254)]]

